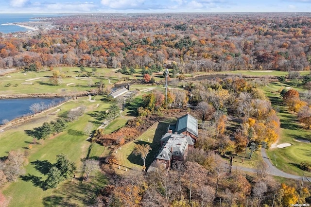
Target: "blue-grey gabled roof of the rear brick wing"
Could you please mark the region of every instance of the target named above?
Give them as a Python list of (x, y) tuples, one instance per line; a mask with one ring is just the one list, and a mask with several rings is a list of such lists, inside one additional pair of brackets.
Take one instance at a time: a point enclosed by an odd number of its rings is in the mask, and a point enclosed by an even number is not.
[(186, 114), (177, 119), (175, 130), (178, 134), (188, 131), (192, 135), (198, 137), (198, 120), (191, 115)]

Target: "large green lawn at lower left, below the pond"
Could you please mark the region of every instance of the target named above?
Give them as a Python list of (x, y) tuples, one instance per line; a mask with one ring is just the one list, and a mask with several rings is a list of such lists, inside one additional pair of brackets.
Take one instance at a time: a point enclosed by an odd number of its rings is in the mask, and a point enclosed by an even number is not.
[[(64, 132), (54, 138), (44, 140), (42, 145), (33, 145), (31, 150), (26, 148), (32, 138), (26, 135), (24, 130), (32, 130), (34, 127), (42, 125), (43, 121), (55, 119), (57, 115), (49, 115), (51, 112), (47, 112), (36, 120), (13, 126), (0, 134), (0, 156), (7, 155), (7, 152), (11, 150), (22, 150), (29, 154), (29, 164), (25, 166), (26, 174), (21, 176), (17, 182), (10, 183), (3, 189), (4, 195), (10, 198), (10, 207), (87, 206), (91, 205), (90, 196), (94, 194), (94, 191), (106, 184), (107, 180), (104, 174), (97, 173), (90, 182), (69, 179), (61, 183), (57, 189), (43, 190), (42, 188), (49, 167), (55, 163), (56, 155), (61, 153), (68, 155), (69, 159), (77, 166), (76, 176), (80, 177), (83, 175), (82, 161), (86, 156), (97, 158), (105, 153), (103, 146), (86, 141), (87, 135), (84, 129), (88, 121), (94, 121), (96, 128), (98, 125), (89, 113), (94, 110), (105, 111), (109, 104), (104, 104), (101, 101), (91, 103), (82, 100), (69, 102), (60, 106), (62, 110), (58, 112), (58, 116), (65, 116), (67, 110), (81, 104), (87, 107), (83, 117), (80, 117), (78, 121), (70, 122)], [(100, 105), (96, 107), (97, 104)]]

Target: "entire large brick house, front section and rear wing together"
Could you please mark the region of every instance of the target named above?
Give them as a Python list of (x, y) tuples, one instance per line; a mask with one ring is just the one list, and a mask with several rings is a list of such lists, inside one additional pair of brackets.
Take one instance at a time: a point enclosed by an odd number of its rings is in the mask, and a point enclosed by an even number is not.
[(161, 148), (155, 160), (164, 168), (170, 168), (174, 161), (186, 158), (188, 149), (193, 148), (198, 138), (198, 121), (187, 114), (170, 125), (168, 132), (161, 138)]

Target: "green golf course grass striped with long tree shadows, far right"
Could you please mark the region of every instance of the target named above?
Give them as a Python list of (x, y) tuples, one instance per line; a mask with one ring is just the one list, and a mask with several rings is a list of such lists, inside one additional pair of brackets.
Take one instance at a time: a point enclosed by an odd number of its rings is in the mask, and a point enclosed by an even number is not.
[[(286, 85), (285, 85), (286, 86)], [(281, 100), (279, 93), (277, 92), (283, 84), (272, 83), (264, 87), (266, 95), (269, 97), (272, 106), (279, 112), (277, 113), (280, 118), (280, 138), (278, 144), (291, 143), (292, 146), (286, 148), (275, 148), (267, 150), (267, 155), (270, 157), (272, 163), (280, 170), (302, 175), (308, 174), (305, 171), (299, 169), (298, 164), (302, 161), (310, 161), (311, 156), (311, 144), (297, 142), (295, 139), (309, 139), (311, 140), (310, 130), (306, 130), (297, 121), (297, 115), (288, 111), (288, 107), (285, 106)], [(298, 91), (302, 91), (301, 88), (295, 87)], [(311, 173), (309, 173), (311, 175)]]

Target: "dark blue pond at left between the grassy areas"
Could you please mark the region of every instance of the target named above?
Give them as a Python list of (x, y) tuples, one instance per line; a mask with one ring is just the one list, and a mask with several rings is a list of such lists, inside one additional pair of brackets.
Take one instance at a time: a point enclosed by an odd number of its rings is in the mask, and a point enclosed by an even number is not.
[(33, 104), (38, 103), (44, 108), (49, 108), (64, 101), (64, 98), (0, 99), (0, 124), (34, 114), (30, 109)]

